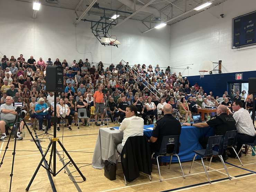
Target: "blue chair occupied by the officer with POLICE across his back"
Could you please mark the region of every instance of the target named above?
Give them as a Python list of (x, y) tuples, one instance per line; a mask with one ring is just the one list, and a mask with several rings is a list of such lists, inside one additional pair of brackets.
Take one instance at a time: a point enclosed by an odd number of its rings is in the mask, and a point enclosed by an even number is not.
[[(243, 166), (243, 163), (241, 162), (239, 156), (236, 153), (236, 150), (234, 146), (236, 145), (236, 136), (237, 136), (237, 130), (227, 131), (226, 134), (223, 137), (223, 150), (227, 150), (228, 148), (232, 148), (240, 161), (241, 165)], [(209, 170), (209, 167), (208, 167)]]

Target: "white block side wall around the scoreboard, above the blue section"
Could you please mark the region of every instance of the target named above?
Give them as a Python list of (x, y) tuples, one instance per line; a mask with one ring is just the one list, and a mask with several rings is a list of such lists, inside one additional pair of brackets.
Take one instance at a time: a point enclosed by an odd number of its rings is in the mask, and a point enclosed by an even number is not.
[[(222, 60), (222, 73), (256, 70), (255, 46), (231, 49), (232, 18), (255, 10), (255, 0), (228, 0), (172, 25), (171, 66), (193, 63), (188, 65), (192, 69), (185, 70), (183, 76), (199, 75), (200, 64), (207, 60)], [(221, 13), (224, 18), (219, 16)]]

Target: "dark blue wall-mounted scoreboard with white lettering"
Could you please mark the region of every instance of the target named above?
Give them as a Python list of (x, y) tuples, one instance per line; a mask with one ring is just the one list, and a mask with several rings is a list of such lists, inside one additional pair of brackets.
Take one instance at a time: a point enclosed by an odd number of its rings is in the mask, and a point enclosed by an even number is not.
[(232, 48), (256, 44), (256, 11), (233, 18)]

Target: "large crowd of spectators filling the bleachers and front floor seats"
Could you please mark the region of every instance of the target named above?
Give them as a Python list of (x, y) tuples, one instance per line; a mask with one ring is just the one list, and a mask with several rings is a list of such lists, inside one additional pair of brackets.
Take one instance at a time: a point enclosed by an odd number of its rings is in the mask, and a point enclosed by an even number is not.
[[(0, 64), (1, 107), (8, 109), (9, 100), (23, 102), (22, 109), (28, 109), (31, 127), (34, 128), (36, 118), (39, 121), (39, 130), (44, 129), (43, 119), (47, 119), (46, 129), (51, 128), (54, 93), (46, 91), (45, 80), (46, 68), (52, 65), (64, 68), (64, 91), (56, 95), (56, 108), (58, 123), (61, 119), (67, 119), (69, 130), (72, 130), (73, 117), (74, 124), (77, 125), (78, 110), (81, 108), (86, 109), (89, 117), (94, 107), (95, 124), (98, 124), (97, 117), (100, 113), (99, 124), (103, 125), (106, 113), (104, 103), (111, 121), (116, 121), (119, 117), (120, 123), (124, 120), (126, 107), (129, 105), (137, 107), (144, 124), (152, 123), (154, 118), (163, 117), (163, 108), (167, 103), (185, 121), (188, 117), (192, 120), (191, 114), (205, 106), (217, 107), (222, 104), (232, 111), (231, 102), (238, 100), (243, 102), (245, 109), (252, 110), (253, 95), (247, 94), (245, 90), (240, 94), (231, 91), (229, 95), (225, 91), (222, 97), (214, 96), (212, 92), (205, 93), (197, 83), (191, 85), (189, 79), (181, 73), (171, 73), (170, 66), (163, 70), (158, 64), (155, 67), (146, 67), (145, 64), (129, 66), (128, 62), (125, 65), (120, 62), (116, 66), (112, 63), (106, 67), (102, 62), (92, 65), (87, 58), (85, 62), (80, 59), (79, 62), (74, 60), (68, 63), (65, 59), (60, 62), (58, 58), (54, 62), (48, 58), (45, 62), (42, 57), (36, 61), (33, 56), (26, 60), (22, 54), (17, 59), (14, 56), (9, 59), (4, 55)], [(49, 110), (46, 110), (48, 107)], [(7, 112), (4, 111), (8, 110), (1, 111), (1, 140), (6, 138), (4, 126), (13, 121), (10, 117), (5, 121), (4, 113)], [(82, 119), (82, 122), (86, 126), (86, 120)], [(57, 129), (60, 130), (60, 125)], [(22, 139), (20, 135), (18, 138)]]

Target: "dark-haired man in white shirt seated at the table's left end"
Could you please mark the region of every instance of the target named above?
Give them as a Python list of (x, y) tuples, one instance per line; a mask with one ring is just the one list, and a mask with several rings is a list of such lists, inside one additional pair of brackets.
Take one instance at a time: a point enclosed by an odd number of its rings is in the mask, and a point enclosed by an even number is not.
[(134, 105), (127, 106), (125, 117), (126, 118), (122, 121), (122, 124), (119, 127), (119, 130), (124, 132), (122, 143), (117, 145), (117, 151), (119, 153), (122, 152), (128, 137), (143, 135), (144, 120), (143, 118), (138, 117), (137, 107)]

